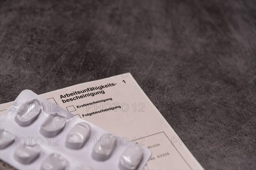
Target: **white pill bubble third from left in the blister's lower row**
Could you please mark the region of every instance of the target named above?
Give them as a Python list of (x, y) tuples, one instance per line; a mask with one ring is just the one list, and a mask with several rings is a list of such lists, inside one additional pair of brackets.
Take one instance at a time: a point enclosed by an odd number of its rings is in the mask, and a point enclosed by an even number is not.
[(41, 164), (41, 170), (64, 170), (67, 160), (58, 153), (50, 154)]

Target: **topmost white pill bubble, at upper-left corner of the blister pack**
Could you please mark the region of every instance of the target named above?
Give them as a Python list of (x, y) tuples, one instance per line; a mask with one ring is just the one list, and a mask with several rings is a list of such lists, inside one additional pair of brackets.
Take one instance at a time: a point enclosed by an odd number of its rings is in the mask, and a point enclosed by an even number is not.
[(38, 117), (41, 111), (42, 105), (37, 99), (29, 100), (18, 109), (15, 121), (20, 126), (28, 126)]

